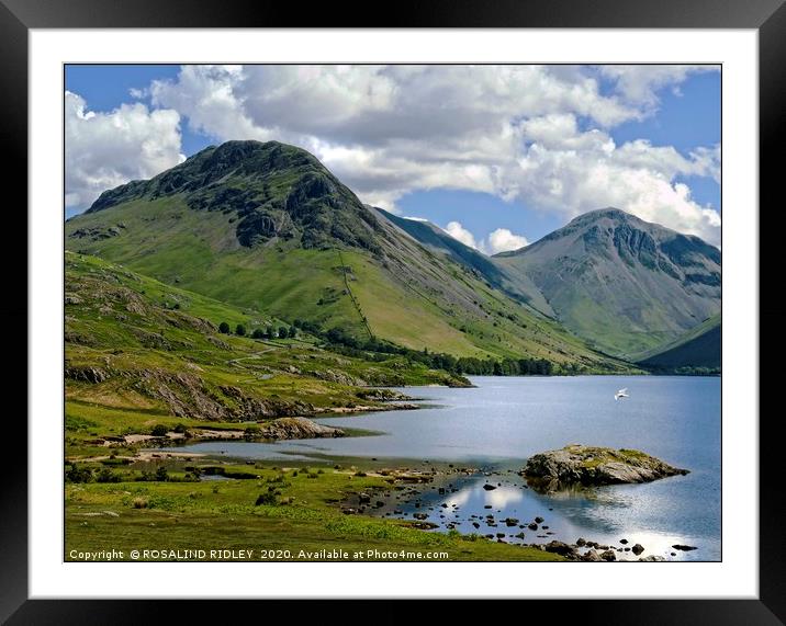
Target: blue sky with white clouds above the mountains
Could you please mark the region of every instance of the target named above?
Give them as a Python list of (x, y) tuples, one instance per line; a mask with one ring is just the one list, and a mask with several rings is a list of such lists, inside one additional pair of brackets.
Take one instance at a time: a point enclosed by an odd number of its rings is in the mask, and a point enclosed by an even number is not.
[(67, 66), (66, 217), (229, 139), (486, 254), (615, 206), (720, 243), (718, 66)]

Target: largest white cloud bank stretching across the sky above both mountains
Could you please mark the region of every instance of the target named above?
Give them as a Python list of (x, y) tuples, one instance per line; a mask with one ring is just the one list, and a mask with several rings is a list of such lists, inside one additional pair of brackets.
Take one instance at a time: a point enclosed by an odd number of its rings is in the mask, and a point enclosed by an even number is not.
[(617, 206), (717, 242), (717, 207), (678, 181), (718, 180), (720, 147), (682, 155), (609, 135), (654, 115), (661, 90), (698, 71), (717, 68), (183, 66), (148, 92), (217, 141), (301, 146), (389, 210), (415, 190), (467, 190), (564, 219)]

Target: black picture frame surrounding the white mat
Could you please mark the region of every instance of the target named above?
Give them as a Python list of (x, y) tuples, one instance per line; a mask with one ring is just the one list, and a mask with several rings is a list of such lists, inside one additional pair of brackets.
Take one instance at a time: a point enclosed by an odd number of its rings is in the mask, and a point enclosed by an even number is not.
[[(31, 29), (70, 27), (561, 27), (561, 29), (752, 29), (759, 33), (760, 76), (760, 206), (782, 204), (775, 168), (779, 168), (783, 112), (786, 111), (786, 7), (784, 0), (402, 0), (380, 11), (373, 3), (310, 3), (307, 10), (295, 3), (273, 3), (257, 0), (0, 0), (0, 84), (2, 112), (0, 138), (4, 164), (2, 185), (7, 228), (14, 236), (3, 247), (7, 297), (0, 306), (2, 328), (7, 329), (19, 363), (27, 363), (26, 337), (35, 329), (29, 326), (27, 276), (20, 271), (20, 255), (26, 258), (27, 189), (27, 39)], [(384, 21), (382, 21), (384, 20)], [(53, 139), (53, 143), (56, 139)], [(58, 149), (53, 145), (53, 149)], [(782, 178), (782, 177), (781, 177)], [(756, 207), (734, 207), (749, 210)], [(759, 209), (760, 246), (762, 251), (774, 251), (779, 244), (777, 228), (761, 228), (764, 212)], [(8, 230), (7, 230), (8, 232)], [(14, 246), (15, 242), (15, 246)], [(782, 244), (781, 244), (782, 247)], [(775, 257), (773, 254), (773, 258)], [(778, 263), (760, 260), (761, 286), (775, 286)], [(760, 301), (760, 333), (765, 328), (782, 326), (783, 305), (771, 299)], [(776, 326), (777, 325), (777, 326)], [(24, 343), (24, 345), (23, 345)], [(767, 335), (767, 352), (783, 354), (783, 339)], [(24, 351), (24, 352), (23, 352)], [(756, 366), (757, 364), (751, 364)], [(764, 367), (760, 358), (760, 389), (777, 388), (777, 371)], [(30, 373), (34, 375), (35, 373)], [(8, 408), (8, 417), (12, 409)], [(13, 407), (16, 419), (5, 419), (5, 440), (27, 441), (25, 423), (19, 419), (26, 413), (26, 399)], [(779, 452), (777, 436), (782, 411), (761, 410), (760, 416), (732, 416), (733, 419), (759, 420), (760, 432), (760, 593), (757, 600), (603, 600), (603, 601), (528, 601), (538, 610), (564, 614), (568, 610), (584, 623), (603, 624), (781, 624), (786, 621), (786, 540), (784, 539), (784, 498), (781, 496)], [(0, 621), (9, 624), (131, 624), (143, 619), (164, 619), (176, 613), (180, 621), (203, 623), (214, 619), (222, 623), (226, 615), (237, 615), (237, 607), (228, 608), (229, 601), (151, 601), (151, 600), (29, 600), (27, 599), (27, 448), (18, 449), (14, 463), (9, 463), (0, 489)], [(741, 526), (755, 520), (754, 511), (739, 512)], [(731, 521), (731, 523), (738, 523)], [(741, 538), (740, 540), (746, 540)], [(86, 589), (89, 595), (90, 590)], [(276, 615), (284, 601), (266, 602), (265, 613)], [(302, 602), (302, 601), (300, 601)], [(314, 601), (317, 602), (317, 601)], [(324, 601), (318, 601), (324, 602)], [(385, 604), (389, 601), (380, 601)], [(245, 608), (245, 607), (244, 607)], [(310, 606), (308, 608), (312, 608)], [(317, 611), (336, 611), (332, 606), (313, 606)], [(482, 608), (481, 608), (482, 610)], [(496, 607), (495, 607), (496, 610)], [(514, 608), (515, 610), (515, 608)], [(374, 616), (393, 619), (400, 610), (375, 606)], [(420, 619), (430, 610), (418, 607)], [(425, 612), (424, 612), (425, 611)], [(439, 608), (440, 614), (443, 608)], [(528, 607), (529, 611), (529, 607)], [(328, 613), (323, 613), (328, 615)], [(223, 617), (218, 617), (223, 616)], [(368, 616), (368, 614), (367, 614)], [(380, 619), (378, 619), (380, 621)]]

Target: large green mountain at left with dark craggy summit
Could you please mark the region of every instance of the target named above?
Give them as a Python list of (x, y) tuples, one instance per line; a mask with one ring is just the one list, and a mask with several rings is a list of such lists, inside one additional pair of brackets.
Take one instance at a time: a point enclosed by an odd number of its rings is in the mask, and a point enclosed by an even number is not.
[(315, 157), (277, 141), (212, 146), (106, 191), (66, 223), (66, 247), (337, 337), (546, 358), (570, 371), (629, 368), (496, 288), (495, 265), (480, 272), (435, 252)]

